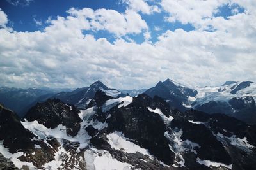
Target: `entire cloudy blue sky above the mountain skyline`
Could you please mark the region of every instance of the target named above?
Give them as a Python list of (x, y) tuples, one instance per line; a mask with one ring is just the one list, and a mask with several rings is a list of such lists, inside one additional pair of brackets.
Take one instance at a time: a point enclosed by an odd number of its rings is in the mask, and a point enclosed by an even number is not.
[(255, 0), (1, 0), (0, 86), (256, 81)]

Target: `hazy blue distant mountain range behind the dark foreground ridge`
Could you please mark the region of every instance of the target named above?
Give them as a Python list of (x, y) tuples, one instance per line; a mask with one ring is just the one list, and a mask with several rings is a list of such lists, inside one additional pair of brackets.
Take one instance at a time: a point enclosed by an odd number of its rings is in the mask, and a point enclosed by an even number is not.
[(102, 90), (112, 97), (135, 97), (145, 93), (150, 97), (162, 97), (172, 109), (186, 111), (190, 108), (206, 113), (224, 113), (236, 117), (248, 124), (256, 124), (256, 83), (251, 81), (227, 81), (217, 87), (186, 87), (167, 79), (155, 87), (140, 90), (116, 90), (95, 81), (89, 87), (71, 89), (50, 88), (0, 88), (0, 103), (15, 111), (20, 117), (36, 103), (57, 98), (67, 104), (84, 109), (90, 103), (95, 92)]

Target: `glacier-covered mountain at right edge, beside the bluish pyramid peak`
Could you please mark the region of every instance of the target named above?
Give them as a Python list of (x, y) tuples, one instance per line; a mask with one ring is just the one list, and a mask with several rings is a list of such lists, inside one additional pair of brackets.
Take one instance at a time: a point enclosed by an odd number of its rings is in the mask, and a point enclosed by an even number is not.
[(196, 88), (192, 108), (207, 113), (225, 113), (248, 124), (256, 124), (256, 83), (227, 81), (218, 87)]

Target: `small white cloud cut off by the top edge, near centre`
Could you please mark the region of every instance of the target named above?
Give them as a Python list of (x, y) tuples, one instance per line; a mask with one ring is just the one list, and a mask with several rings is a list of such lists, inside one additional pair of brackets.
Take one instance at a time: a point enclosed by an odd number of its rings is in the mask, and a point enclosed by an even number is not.
[(149, 5), (147, 0), (122, 0), (130, 10), (141, 11), (144, 14), (159, 13), (161, 10), (157, 5)]

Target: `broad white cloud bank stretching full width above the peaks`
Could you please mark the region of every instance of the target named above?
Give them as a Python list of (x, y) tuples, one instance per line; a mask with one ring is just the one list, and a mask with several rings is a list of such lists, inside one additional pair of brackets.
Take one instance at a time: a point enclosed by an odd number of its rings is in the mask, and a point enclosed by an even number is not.
[[(256, 81), (255, 14), (250, 4), (243, 5), (244, 13), (212, 17), (201, 25), (211, 25), (214, 31), (168, 30), (156, 43), (122, 39), (127, 34), (150, 39), (147, 23), (131, 9), (119, 13), (71, 8), (67, 17), (49, 18), (44, 31), (2, 28), (0, 82), (16, 87), (83, 87), (102, 80), (111, 87), (133, 89), (166, 78), (191, 86)], [(118, 38), (110, 43), (83, 34), (84, 30), (105, 30)]]

